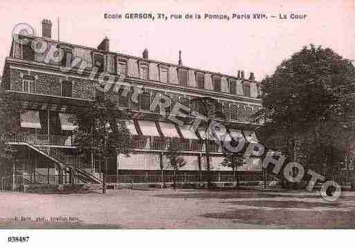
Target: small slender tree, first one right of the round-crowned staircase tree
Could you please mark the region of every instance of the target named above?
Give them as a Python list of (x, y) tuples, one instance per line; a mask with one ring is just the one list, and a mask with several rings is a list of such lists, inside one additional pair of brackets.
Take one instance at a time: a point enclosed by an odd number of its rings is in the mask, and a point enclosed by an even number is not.
[(168, 142), (166, 157), (169, 160), (173, 171), (174, 178), (174, 189), (176, 189), (176, 172), (183, 166), (185, 166), (185, 160), (179, 156), (179, 152), (181, 152), (181, 146), (179, 140), (171, 139)]

